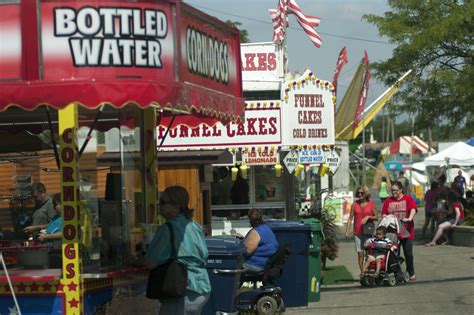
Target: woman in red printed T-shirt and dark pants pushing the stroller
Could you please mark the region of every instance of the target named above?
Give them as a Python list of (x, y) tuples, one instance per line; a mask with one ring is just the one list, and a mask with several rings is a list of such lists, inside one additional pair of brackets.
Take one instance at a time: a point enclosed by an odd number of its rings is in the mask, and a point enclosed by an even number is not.
[(387, 198), (382, 205), (382, 216), (393, 214), (403, 222), (409, 232), (407, 238), (400, 238), (400, 245), (403, 247), (407, 271), (410, 280), (416, 280), (415, 266), (413, 259), (413, 239), (415, 238), (415, 225), (413, 217), (417, 213), (415, 201), (409, 195), (403, 194), (403, 185), (400, 182), (392, 184), (392, 197)]

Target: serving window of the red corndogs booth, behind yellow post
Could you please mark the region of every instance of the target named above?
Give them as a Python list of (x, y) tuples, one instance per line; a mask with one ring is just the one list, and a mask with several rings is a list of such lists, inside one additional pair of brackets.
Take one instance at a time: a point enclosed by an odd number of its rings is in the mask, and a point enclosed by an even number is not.
[[(146, 218), (142, 206), (141, 115), (142, 111), (134, 106), (106, 106), (100, 114), (98, 109), (79, 107), (79, 237), (85, 272), (123, 264), (142, 237), (139, 227)], [(102, 141), (98, 141), (99, 132)], [(57, 110), (11, 108), (2, 112), (0, 173), (4, 180), (0, 183), (0, 226), (4, 239), (35, 236), (22, 232), (31, 224), (29, 218), (35, 208), (30, 192), (32, 182), (43, 183), (50, 196), (61, 192), (53, 149), (58, 143)], [(106, 160), (104, 155), (108, 156)], [(54, 243), (60, 248), (60, 240)], [(45, 266), (38, 263), (27, 267)]]

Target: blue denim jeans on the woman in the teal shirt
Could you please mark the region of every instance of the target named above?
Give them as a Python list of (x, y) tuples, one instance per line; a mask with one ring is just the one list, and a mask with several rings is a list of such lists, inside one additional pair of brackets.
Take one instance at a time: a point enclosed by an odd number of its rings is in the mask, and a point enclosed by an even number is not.
[(186, 295), (180, 299), (160, 301), (159, 315), (200, 315), (201, 310), (209, 299), (210, 293), (201, 294), (186, 290)]

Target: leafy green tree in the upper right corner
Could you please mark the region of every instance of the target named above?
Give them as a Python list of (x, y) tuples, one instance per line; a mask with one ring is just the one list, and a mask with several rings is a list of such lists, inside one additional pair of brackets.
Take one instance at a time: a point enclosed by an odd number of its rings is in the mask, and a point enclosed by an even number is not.
[(393, 56), (373, 65), (393, 84), (409, 69), (410, 82), (394, 99), (398, 113), (415, 115), (418, 128), (437, 128), (443, 138), (461, 129), (474, 134), (474, 2), (387, 0), (391, 11), (364, 15), (396, 45)]

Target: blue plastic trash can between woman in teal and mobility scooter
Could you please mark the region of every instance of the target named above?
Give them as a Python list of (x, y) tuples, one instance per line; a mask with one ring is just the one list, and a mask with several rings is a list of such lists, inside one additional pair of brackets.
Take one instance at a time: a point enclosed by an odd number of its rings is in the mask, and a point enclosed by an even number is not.
[(206, 245), (209, 251), (206, 269), (211, 281), (211, 295), (202, 314), (236, 312), (245, 247), (241, 240), (229, 237), (206, 237)]

